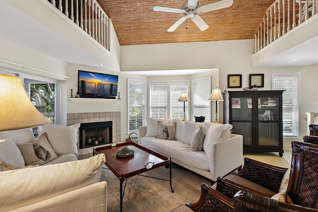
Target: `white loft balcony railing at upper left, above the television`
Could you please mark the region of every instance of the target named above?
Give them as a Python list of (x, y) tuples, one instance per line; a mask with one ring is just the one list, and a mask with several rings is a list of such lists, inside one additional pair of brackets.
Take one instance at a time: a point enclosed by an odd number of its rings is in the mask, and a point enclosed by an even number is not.
[(96, 0), (48, 0), (109, 51), (109, 17)]

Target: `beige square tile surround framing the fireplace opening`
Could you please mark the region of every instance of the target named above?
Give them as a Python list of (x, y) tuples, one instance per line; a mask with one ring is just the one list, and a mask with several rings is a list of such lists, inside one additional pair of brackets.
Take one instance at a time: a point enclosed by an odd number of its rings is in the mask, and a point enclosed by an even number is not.
[[(121, 141), (121, 123), (120, 111), (116, 112), (93, 112), (93, 113), (68, 113), (68, 126), (78, 123), (93, 122), (113, 122), (113, 142)], [(79, 146), (79, 142), (78, 142)], [(103, 146), (103, 145), (99, 145)], [(95, 146), (95, 147), (99, 147)], [(79, 149), (79, 159), (85, 159), (93, 156), (93, 147)]]

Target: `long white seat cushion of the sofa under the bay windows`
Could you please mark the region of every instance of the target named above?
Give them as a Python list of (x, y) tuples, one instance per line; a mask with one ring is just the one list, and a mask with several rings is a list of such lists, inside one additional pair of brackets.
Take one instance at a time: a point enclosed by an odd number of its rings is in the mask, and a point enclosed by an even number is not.
[(143, 146), (150, 148), (163, 155), (169, 155), (184, 164), (194, 166), (206, 171), (210, 170), (209, 157), (204, 151), (192, 151), (191, 145), (182, 141), (169, 141), (156, 139), (155, 137), (141, 138)]

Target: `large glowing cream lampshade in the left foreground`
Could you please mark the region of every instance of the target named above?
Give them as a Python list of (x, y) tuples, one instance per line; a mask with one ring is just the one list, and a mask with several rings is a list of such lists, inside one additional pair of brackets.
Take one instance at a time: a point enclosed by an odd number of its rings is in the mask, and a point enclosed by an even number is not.
[(38, 127), (51, 123), (34, 107), (20, 78), (0, 74), (0, 131)]

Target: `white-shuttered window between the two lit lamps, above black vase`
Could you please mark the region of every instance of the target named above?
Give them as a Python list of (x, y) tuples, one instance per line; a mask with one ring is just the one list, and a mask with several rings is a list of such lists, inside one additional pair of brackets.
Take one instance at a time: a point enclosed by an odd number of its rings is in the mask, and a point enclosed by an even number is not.
[(192, 80), (193, 120), (194, 116), (205, 116), (210, 122), (211, 77)]

